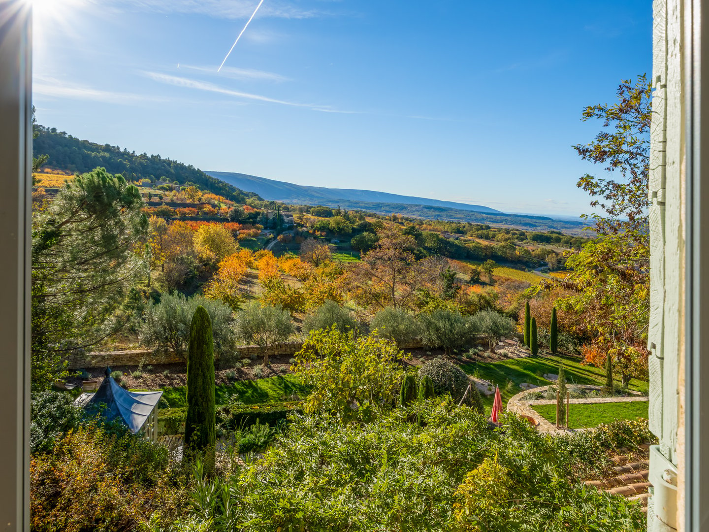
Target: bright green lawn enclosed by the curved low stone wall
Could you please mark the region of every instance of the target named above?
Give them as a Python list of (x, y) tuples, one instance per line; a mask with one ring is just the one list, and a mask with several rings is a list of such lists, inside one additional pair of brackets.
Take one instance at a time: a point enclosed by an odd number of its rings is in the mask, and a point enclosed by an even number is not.
[[(544, 419), (557, 422), (557, 405), (538, 404), (532, 406)], [(569, 428), (595, 427), (616, 419), (647, 419), (648, 401), (628, 401), (625, 403), (569, 404)]]

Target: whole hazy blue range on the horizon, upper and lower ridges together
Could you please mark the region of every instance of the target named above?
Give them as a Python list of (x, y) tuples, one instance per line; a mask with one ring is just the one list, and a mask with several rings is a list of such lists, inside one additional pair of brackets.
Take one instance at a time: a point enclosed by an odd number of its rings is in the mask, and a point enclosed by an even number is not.
[(401, 214), (428, 220), (447, 220), (470, 223), (487, 223), (492, 226), (509, 226), (535, 231), (580, 232), (582, 221), (555, 220), (548, 216), (507, 214), (482, 205), (469, 205), (454, 201), (402, 196), (387, 192), (357, 189), (328, 189), (275, 181), (235, 172), (207, 171), (212, 177), (223, 179), (242, 190), (250, 190), (272, 201), (289, 204), (324, 205), (359, 209), (378, 214)]

